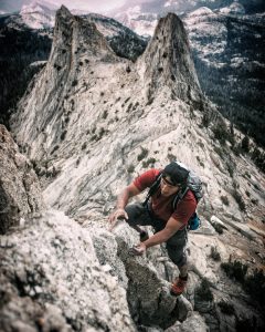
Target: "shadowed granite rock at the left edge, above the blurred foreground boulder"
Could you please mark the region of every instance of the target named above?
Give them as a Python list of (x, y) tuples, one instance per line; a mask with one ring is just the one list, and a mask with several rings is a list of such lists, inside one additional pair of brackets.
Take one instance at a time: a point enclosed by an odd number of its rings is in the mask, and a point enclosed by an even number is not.
[(38, 176), (3, 125), (0, 125), (0, 234), (44, 207)]

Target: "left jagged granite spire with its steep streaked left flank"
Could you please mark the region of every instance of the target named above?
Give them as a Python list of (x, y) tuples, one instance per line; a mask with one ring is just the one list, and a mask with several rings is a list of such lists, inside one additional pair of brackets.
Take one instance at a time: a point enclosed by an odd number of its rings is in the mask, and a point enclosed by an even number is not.
[(35, 81), (34, 93), (29, 92), (29, 107), (23, 105), (20, 116), (13, 118), (14, 131), (23, 117), (28, 118), (22, 136), (18, 135), (17, 139), (28, 142), (29, 155), (43, 157), (51, 153), (51, 144), (56, 146), (65, 138), (73, 107), (73, 104), (65, 105), (70, 92), (74, 89), (74, 94), (78, 94), (80, 85), (83, 90), (87, 84), (94, 85), (96, 63), (115, 61), (118, 62), (118, 58), (95, 23), (72, 15), (65, 7), (57, 11), (47, 64)]

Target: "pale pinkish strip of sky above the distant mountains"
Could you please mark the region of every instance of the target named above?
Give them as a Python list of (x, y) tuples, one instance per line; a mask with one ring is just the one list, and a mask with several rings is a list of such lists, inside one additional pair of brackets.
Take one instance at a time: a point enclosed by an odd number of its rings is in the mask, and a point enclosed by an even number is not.
[[(36, 0), (38, 1), (38, 0)], [(38, 2), (50, 2), (57, 7), (64, 4), (68, 9), (88, 10), (94, 12), (106, 12), (112, 9), (118, 8), (126, 2), (140, 3), (150, 0), (45, 0)], [(0, 0), (0, 11), (18, 11), (23, 4), (34, 2), (33, 0)]]

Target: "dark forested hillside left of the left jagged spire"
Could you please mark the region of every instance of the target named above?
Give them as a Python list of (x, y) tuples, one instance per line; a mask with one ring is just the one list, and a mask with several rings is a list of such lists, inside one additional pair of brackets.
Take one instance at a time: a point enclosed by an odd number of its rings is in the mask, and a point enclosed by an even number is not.
[(25, 92), (40, 66), (34, 61), (47, 60), (52, 40), (31, 29), (8, 27), (0, 20), (0, 123), (8, 126), (9, 115)]

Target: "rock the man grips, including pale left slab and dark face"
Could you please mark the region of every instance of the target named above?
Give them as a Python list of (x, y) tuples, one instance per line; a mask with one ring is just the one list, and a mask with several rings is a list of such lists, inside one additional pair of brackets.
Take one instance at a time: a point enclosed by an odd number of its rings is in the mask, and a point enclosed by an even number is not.
[(110, 235), (106, 224), (83, 225), (93, 236), (93, 243), (100, 264), (115, 276), (126, 291), (130, 315), (137, 325), (172, 325), (176, 320), (183, 321), (191, 304), (183, 297), (170, 294), (170, 283), (159, 273), (156, 261), (162, 256), (161, 250), (153, 252), (152, 258), (132, 257), (129, 249), (137, 243), (138, 234), (125, 221), (120, 221)]

